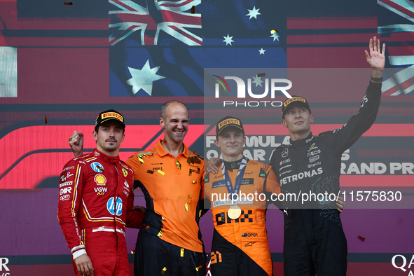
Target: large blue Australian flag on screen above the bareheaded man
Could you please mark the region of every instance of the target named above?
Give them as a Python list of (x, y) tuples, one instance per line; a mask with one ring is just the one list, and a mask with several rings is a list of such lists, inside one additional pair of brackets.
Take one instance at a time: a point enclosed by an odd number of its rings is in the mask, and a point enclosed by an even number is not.
[(287, 67), (282, 2), (109, 4), (111, 97), (203, 96), (205, 68)]

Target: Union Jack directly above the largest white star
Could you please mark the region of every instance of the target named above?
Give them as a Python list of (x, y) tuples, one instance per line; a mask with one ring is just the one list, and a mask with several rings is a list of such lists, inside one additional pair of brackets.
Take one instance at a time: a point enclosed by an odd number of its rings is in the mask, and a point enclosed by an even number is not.
[(109, 29), (113, 30), (109, 36), (111, 46), (138, 30), (141, 30), (142, 45), (157, 45), (160, 31), (163, 31), (188, 46), (202, 46), (202, 38), (187, 29), (201, 28), (201, 14), (186, 12), (198, 6), (201, 0), (147, 0), (146, 7), (134, 1), (109, 0), (109, 3), (118, 8), (109, 11)]

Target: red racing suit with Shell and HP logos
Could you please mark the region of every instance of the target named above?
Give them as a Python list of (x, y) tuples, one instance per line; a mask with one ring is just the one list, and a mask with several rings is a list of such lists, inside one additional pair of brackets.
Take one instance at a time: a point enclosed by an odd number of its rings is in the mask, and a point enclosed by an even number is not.
[(95, 276), (130, 275), (125, 226), (139, 228), (144, 218), (134, 211), (133, 177), (118, 156), (97, 149), (60, 174), (57, 219), (73, 259), (88, 254)]

